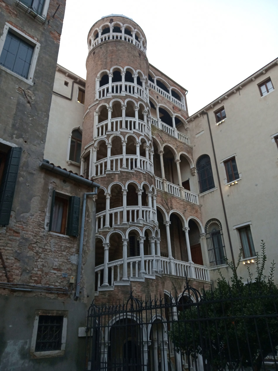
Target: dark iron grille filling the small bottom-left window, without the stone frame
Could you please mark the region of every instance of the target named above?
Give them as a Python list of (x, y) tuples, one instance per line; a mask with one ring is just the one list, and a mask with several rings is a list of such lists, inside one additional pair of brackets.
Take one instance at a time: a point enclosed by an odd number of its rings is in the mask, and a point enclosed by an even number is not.
[(39, 316), (37, 326), (36, 352), (61, 349), (63, 316)]

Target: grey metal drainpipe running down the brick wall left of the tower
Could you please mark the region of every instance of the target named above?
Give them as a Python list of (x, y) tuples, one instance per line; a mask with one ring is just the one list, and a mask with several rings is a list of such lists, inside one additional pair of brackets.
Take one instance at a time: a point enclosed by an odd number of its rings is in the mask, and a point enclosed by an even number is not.
[[(96, 190), (100, 187), (99, 184), (94, 183)], [(80, 278), (81, 278), (81, 262), (82, 262), (82, 249), (83, 249), (83, 237), (84, 237), (84, 225), (85, 225), (85, 212), (86, 212), (86, 197), (87, 196), (93, 196), (96, 195), (96, 192), (88, 192), (84, 193), (83, 197), (83, 208), (82, 208), (82, 222), (81, 222), (81, 232), (80, 232), (80, 243), (79, 243), (79, 258), (78, 258), (78, 267), (77, 267), (77, 277), (76, 277), (76, 290), (75, 290), (75, 298), (74, 300), (77, 300), (79, 298), (79, 291), (80, 291)], [(95, 240), (95, 203), (93, 204), (93, 210), (92, 210), (92, 228), (93, 228), (93, 233), (92, 233), (92, 242), (94, 243)]]

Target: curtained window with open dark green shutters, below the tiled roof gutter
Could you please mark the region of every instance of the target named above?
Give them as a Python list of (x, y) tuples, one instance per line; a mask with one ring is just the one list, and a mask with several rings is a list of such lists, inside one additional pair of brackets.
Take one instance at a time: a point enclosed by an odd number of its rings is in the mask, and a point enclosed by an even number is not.
[(53, 190), (49, 232), (78, 236), (80, 198)]

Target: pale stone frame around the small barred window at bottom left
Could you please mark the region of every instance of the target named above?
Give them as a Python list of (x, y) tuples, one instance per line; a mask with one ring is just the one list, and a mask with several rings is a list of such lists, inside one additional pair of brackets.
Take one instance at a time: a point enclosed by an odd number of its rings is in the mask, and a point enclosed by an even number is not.
[[(61, 349), (52, 350), (46, 352), (35, 352), (36, 349), (36, 340), (37, 340), (37, 328), (39, 325), (39, 316), (63, 316), (63, 327), (62, 327), (62, 340), (61, 340)], [(46, 357), (60, 357), (65, 354), (66, 349), (66, 331), (68, 325), (68, 311), (36, 311), (35, 312), (35, 321), (33, 327), (33, 335), (31, 340), (30, 354), (32, 358), (46, 358)]]

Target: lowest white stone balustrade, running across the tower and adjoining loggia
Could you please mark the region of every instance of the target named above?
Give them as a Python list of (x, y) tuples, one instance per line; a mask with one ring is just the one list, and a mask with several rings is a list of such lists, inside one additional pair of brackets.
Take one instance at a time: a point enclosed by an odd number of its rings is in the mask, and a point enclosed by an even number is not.
[[(155, 263), (153, 265), (153, 260), (155, 259)], [(123, 272), (123, 259), (114, 260), (112, 262), (108, 262), (108, 271), (111, 272), (109, 277), (109, 286), (114, 286), (115, 281), (120, 281), (122, 279), (122, 272)], [(127, 258), (127, 275), (130, 280), (142, 280), (143, 277), (140, 277), (140, 265), (141, 265), (141, 257), (140, 256), (132, 256)], [(158, 255), (145, 255), (144, 256), (144, 269), (147, 275), (152, 275), (152, 269), (155, 267), (157, 272), (161, 272), (165, 275), (173, 275), (177, 277), (188, 277), (188, 278), (196, 278), (202, 281), (209, 282), (209, 269), (205, 266), (183, 262), (181, 260), (170, 259), (169, 257), (160, 257)], [(98, 265), (95, 267), (95, 273), (98, 274), (98, 289), (101, 288), (102, 281), (101, 281), (101, 272), (104, 270), (104, 264)], [(155, 278), (155, 276), (153, 276)], [(105, 286), (101, 289), (105, 290)], [(107, 286), (106, 286), (107, 289)]]

